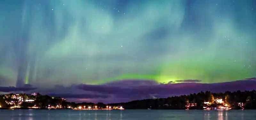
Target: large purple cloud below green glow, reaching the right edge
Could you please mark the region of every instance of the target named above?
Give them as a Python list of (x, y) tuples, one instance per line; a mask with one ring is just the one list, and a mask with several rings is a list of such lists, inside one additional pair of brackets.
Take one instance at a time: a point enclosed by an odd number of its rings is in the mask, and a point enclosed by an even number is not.
[(243, 80), (209, 84), (195, 83), (199, 82), (199, 80), (186, 80), (186, 82), (183, 81), (184, 83), (172, 84), (152, 84), (152, 81), (143, 81), (144, 84), (141, 85), (138, 84), (141, 82), (139, 80), (129, 80), (129, 84), (126, 84), (127, 82), (128, 81), (116, 81), (102, 85), (80, 84), (76, 87), (86, 92), (94, 92), (94, 94), (107, 94), (111, 96), (108, 98), (108, 101), (111, 102), (128, 102), (138, 99), (185, 95), (200, 91), (225, 92), (236, 90), (253, 90), (256, 86), (256, 81)]

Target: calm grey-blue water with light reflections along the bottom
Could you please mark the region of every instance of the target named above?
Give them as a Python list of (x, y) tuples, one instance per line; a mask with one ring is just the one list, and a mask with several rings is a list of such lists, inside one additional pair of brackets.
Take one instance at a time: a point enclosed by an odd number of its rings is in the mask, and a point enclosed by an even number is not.
[(0, 110), (0, 120), (256, 120), (256, 110)]

